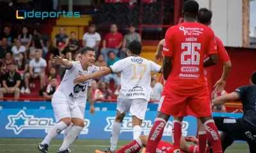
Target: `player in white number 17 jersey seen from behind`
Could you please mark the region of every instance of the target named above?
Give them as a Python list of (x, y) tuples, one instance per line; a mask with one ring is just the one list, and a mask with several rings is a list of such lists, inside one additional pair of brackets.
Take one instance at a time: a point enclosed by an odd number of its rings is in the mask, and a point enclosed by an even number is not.
[(130, 57), (115, 62), (113, 66), (101, 69), (92, 75), (76, 78), (74, 83), (84, 82), (92, 78), (102, 77), (109, 73), (121, 72), (121, 89), (117, 98), (116, 119), (113, 122), (111, 133), (111, 147), (106, 152), (115, 152), (118, 136), (120, 135), (122, 120), (125, 114), (130, 111), (132, 116), (133, 138), (141, 135), (141, 124), (145, 118), (147, 104), (150, 99), (150, 72), (161, 73), (162, 67), (155, 62), (140, 57), (140, 41), (131, 41), (127, 45)]

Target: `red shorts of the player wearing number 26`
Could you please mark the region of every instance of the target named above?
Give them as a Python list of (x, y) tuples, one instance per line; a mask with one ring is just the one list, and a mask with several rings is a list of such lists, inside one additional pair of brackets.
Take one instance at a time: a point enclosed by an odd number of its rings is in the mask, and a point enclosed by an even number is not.
[(179, 96), (172, 91), (163, 91), (157, 111), (166, 113), (173, 117), (194, 117), (211, 116), (211, 101), (209, 90), (204, 90), (195, 94), (195, 96)]

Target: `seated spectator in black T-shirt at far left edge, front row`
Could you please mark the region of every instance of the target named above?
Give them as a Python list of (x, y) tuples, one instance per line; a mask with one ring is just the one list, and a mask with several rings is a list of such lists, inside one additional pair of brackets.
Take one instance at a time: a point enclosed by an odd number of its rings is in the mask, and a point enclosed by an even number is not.
[(14, 98), (20, 97), (20, 73), (15, 71), (15, 64), (10, 64), (9, 72), (4, 74), (3, 79), (3, 87), (0, 88), (0, 98), (3, 98), (3, 94), (13, 94)]

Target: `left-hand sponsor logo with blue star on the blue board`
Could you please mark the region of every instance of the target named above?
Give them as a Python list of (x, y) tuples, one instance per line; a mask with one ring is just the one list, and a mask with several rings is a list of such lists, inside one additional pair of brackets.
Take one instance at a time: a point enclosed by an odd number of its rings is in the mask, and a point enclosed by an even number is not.
[[(5, 129), (12, 130), (15, 135), (19, 135), (24, 130), (45, 130), (45, 133), (48, 133), (55, 122), (52, 118), (39, 118), (34, 115), (28, 115), (24, 110), (20, 110), (15, 115), (8, 115), (8, 124), (5, 126)], [(90, 120), (84, 119), (84, 129), (81, 131), (82, 135), (88, 134)], [(63, 133), (60, 129), (56, 131), (57, 133)]]

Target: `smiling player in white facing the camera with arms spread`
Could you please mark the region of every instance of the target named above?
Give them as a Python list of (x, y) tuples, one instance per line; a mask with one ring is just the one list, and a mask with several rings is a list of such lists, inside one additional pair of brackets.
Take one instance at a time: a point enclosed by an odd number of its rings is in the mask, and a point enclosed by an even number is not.
[[(88, 81), (74, 84), (73, 80), (79, 77), (78, 73), (90, 75), (94, 71), (99, 70), (97, 66), (93, 66), (95, 62), (95, 51), (93, 48), (86, 47), (81, 52), (80, 61), (69, 62), (62, 57), (54, 57), (56, 64), (61, 64), (67, 68), (66, 73), (61, 81), (58, 89), (52, 97), (52, 108), (56, 119), (56, 124), (47, 134), (44, 141), (38, 143), (38, 150), (48, 153), (48, 145), (52, 139), (60, 135), (61, 131), (66, 129), (72, 122), (74, 126), (68, 131), (67, 136), (57, 152), (68, 153), (68, 147), (72, 145), (84, 128), (84, 110), (87, 99)], [(90, 112), (93, 113), (93, 101), (91, 103)]]

